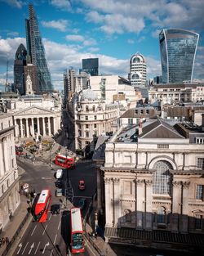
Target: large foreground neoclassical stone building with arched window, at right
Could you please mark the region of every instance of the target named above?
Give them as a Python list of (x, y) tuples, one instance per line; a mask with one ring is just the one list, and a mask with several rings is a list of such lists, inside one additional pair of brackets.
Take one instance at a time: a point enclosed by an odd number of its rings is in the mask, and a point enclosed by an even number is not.
[(143, 127), (122, 126), (106, 141), (97, 178), (106, 240), (203, 247), (203, 138), (204, 115), (200, 127), (157, 118)]

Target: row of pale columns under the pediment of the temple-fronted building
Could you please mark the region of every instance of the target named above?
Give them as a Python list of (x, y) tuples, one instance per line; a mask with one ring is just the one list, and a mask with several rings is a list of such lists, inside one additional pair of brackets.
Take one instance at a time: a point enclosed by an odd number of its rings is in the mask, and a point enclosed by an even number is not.
[[(23, 119), (25, 119), (25, 128), (23, 129)], [(31, 126), (29, 127), (29, 119), (31, 119)], [(17, 124), (17, 120), (19, 120), (20, 124), (19, 124), (19, 132), (16, 132), (20, 135), (20, 137), (24, 137), (24, 134), (25, 134), (25, 137), (30, 137), (30, 133), (31, 133), (31, 136), (34, 137), (35, 135), (35, 131), (34, 131), (34, 118), (19, 118), (19, 119), (15, 119), (16, 121), (16, 124)], [(51, 124), (51, 118), (50, 117), (46, 117), (46, 118), (43, 118), (43, 117), (36, 117), (37, 119), (37, 133), (38, 134), (41, 134), (42, 136), (51, 136), (51, 125), (52, 125), (52, 128), (53, 128), (53, 134), (55, 134), (55, 119), (53, 118), (52, 119), (52, 124)], [(40, 129), (40, 119), (42, 119), (42, 131)], [(47, 119), (47, 128), (48, 128), (48, 134), (47, 134), (47, 131), (46, 131), (46, 119)], [(16, 126), (15, 124), (15, 126)]]

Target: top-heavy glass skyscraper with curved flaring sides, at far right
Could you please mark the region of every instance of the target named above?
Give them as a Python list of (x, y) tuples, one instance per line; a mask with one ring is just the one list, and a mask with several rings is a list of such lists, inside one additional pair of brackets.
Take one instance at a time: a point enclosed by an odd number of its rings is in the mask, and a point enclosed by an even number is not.
[(159, 34), (162, 83), (192, 82), (199, 34), (184, 29), (162, 29)]

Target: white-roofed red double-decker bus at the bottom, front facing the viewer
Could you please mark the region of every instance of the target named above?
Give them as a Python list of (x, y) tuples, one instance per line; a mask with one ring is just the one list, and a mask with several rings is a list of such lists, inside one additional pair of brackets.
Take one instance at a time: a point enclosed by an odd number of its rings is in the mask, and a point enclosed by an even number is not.
[(71, 252), (82, 253), (84, 249), (84, 237), (82, 229), (82, 215), (79, 208), (71, 209)]

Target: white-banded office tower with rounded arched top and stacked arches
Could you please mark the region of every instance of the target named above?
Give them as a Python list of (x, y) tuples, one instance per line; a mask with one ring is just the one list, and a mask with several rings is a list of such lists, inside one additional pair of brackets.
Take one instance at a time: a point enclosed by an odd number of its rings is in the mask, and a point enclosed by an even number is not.
[(144, 56), (139, 52), (131, 56), (129, 79), (134, 87), (144, 88), (146, 85), (147, 67)]

